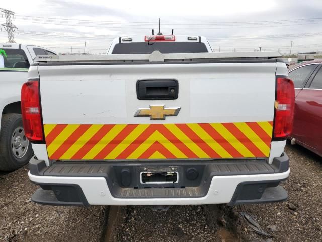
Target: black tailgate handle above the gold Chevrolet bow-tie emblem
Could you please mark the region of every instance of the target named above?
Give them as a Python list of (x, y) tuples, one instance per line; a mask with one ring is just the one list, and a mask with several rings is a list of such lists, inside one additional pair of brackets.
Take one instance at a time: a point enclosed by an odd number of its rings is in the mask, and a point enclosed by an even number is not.
[(138, 80), (136, 96), (139, 100), (173, 100), (178, 98), (178, 80)]

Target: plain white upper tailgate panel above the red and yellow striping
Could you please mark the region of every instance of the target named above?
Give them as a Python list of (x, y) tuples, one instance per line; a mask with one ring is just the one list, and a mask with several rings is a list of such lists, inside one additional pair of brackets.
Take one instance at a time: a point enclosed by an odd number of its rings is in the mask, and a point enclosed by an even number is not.
[[(40, 66), (43, 122), (151, 124), (272, 121), (275, 71), (276, 63)], [(178, 99), (138, 100), (136, 81), (158, 78), (178, 80)], [(134, 117), (137, 108), (160, 103), (166, 107), (181, 107), (179, 115), (167, 117), (166, 120)]]

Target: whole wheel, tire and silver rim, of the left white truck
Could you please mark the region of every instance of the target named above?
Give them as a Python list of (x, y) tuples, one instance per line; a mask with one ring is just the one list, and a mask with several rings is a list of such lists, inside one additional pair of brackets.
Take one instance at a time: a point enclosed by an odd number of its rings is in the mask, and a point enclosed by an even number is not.
[(33, 151), (25, 136), (21, 114), (3, 114), (0, 129), (0, 170), (13, 171), (26, 165)]

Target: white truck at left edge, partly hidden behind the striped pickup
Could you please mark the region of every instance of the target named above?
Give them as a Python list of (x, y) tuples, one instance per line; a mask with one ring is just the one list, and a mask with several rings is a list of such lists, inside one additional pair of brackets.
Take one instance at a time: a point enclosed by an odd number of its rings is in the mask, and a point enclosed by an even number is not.
[(16, 170), (33, 156), (21, 118), (21, 86), (39, 54), (53, 51), (27, 44), (0, 43), (0, 170)]

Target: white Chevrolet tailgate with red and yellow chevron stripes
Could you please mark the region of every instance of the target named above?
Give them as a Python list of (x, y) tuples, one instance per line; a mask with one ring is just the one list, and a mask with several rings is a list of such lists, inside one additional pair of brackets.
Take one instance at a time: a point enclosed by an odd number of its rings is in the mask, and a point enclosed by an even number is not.
[[(275, 62), (78, 64), (38, 66), (51, 160), (270, 155)], [(138, 80), (168, 79), (177, 99), (138, 100)], [(165, 119), (135, 116), (139, 108)]]

